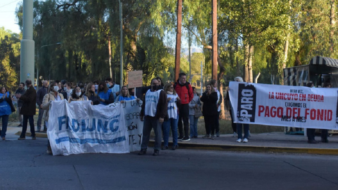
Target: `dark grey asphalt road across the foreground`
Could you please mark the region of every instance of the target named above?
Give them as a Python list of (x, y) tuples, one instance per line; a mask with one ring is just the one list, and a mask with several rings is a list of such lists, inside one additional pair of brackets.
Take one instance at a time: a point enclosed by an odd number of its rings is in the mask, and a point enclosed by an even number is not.
[(0, 141), (0, 189), (338, 189), (338, 157), (177, 149), (51, 156), (45, 138)]

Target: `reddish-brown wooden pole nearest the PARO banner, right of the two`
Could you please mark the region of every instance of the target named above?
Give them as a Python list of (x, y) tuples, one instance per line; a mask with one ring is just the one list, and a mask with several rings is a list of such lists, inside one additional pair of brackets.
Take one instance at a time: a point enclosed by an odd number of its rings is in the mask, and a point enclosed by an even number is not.
[(212, 79), (217, 80), (217, 0), (212, 1)]

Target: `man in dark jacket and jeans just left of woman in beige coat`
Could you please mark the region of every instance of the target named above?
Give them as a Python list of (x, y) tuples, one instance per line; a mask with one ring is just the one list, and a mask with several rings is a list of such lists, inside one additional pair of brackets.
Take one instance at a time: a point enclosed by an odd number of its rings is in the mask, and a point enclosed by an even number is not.
[[(39, 115), (38, 115), (38, 121), (37, 121), (37, 132), (41, 131), (41, 122), (42, 122), (42, 116), (43, 116), (43, 112), (44, 110), (42, 109), (42, 100), (43, 97), (48, 93), (48, 81), (44, 80), (43, 81), (43, 85), (42, 88), (40, 88), (37, 92), (37, 104), (39, 106)], [(46, 126), (46, 122), (43, 122), (43, 131), (46, 132), (47, 131), (47, 126)]]

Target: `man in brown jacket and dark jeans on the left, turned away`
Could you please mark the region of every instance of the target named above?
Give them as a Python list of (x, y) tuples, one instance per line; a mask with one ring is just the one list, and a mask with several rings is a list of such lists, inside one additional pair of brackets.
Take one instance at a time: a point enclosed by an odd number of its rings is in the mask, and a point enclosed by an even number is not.
[[(32, 81), (30, 79), (26, 80), (26, 86), (27, 90), (24, 95), (21, 94), (15, 94), (15, 96), (23, 101), (20, 114), (23, 115), (23, 121), (22, 121), (22, 132), (18, 140), (24, 140), (26, 139), (26, 130), (27, 130), (27, 123), (29, 120), (29, 126), (30, 126), (30, 133), (32, 136), (32, 139), (37, 139), (35, 137), (35, 128), (34, 128), (34, 118), (33, 116), (36, 114), (36, 102), (37, 102), (37, 91), (35, 91)], [(47, 130), (47, 127), (46, 127)]]

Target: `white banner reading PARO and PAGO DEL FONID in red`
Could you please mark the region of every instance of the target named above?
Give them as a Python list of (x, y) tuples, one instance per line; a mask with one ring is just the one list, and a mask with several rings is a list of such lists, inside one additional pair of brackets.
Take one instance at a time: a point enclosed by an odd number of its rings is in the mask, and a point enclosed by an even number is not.
[(338, 129), (338, 89), (230, 82), (238, 123)]

